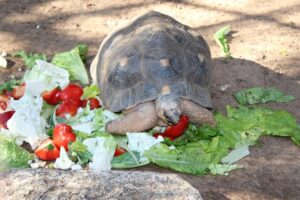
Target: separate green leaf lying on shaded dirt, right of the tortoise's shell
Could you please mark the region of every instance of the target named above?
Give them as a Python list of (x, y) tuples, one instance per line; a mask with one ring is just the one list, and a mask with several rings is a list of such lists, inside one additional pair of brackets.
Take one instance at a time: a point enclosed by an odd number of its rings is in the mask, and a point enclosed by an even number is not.
[(270, 101), (287, 103), (295, 99), (293, 96), (285, 95), (283, 92), (275, 88), (262, 87), (244, 89), (234, 93), (233, 96), (240, 104), (243, 105), (266, 103)]

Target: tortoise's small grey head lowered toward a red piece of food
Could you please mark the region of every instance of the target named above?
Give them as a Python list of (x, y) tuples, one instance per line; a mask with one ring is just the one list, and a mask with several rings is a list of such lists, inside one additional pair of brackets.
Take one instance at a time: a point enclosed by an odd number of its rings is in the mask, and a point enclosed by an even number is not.
[(174, 94), (164, 94), (155, 100), (157, 115), (169, 125), (177, 124), (182, 114), (180, 99)]

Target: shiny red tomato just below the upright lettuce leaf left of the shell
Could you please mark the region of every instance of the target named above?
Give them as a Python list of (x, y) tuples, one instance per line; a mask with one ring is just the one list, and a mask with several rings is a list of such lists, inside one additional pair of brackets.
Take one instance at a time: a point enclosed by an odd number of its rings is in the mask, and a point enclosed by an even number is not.
[(82, 94), (83, 94), (83, 89), (81, 88), (81, 86), (71, 83), (65, 89), (62, 90), (60, 94), (60, 99), (62, 101), (73, 100), (76, 102), (78, 101), (80, 102), (80, 97)]

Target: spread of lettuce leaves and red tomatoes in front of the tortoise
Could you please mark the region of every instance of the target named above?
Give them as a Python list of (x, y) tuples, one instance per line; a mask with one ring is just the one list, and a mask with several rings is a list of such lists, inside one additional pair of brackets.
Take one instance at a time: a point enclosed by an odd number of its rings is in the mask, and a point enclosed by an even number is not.
[[(288, 102), (291, 96), (264, 88), (235, 93), (241, 103), (215, 114), (216, 127), (189, 124), (187, 116), (164, 130), (114, 136), (105, 124), (120, 117), (101, 107), (96, 85), (88, 85), (87, 46), (56, 54), (17, 53), (28, 70), (22, 80), (0, 86), (0, 171), (47, 167), (107, 171), (149, 163), (195, 175), (226, 175), (264, 135), (290, 137), (300, 145), (300, 127), (286, 111), (245, 105)], [(243, 105), (242, 105), (243, 104)]]

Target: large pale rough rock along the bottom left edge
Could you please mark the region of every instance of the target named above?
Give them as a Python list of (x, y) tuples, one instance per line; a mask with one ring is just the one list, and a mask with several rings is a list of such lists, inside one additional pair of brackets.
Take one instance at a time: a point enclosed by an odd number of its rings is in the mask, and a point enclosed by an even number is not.
[(202, 199), (175, 174), (16, 170), (0, 174), (0, 199)]

